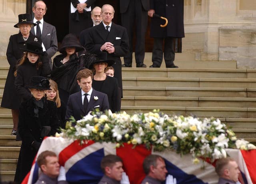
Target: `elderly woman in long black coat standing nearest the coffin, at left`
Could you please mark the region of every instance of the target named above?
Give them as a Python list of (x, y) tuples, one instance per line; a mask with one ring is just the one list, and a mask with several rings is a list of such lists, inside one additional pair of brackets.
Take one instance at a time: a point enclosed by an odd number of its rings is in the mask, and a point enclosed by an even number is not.
[(54, 135), (60, 127), (56, 103), (43, 97), (44, 90), (50, 90), (49, 81), (33, 76), (27, 87), (33, 97), (20, 105), (18, 131), (22, 144), (14, 178), (16, 183), (21, 183), (30, 171), (44, 137)]

